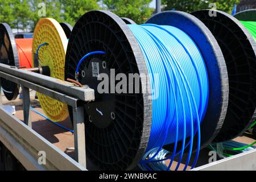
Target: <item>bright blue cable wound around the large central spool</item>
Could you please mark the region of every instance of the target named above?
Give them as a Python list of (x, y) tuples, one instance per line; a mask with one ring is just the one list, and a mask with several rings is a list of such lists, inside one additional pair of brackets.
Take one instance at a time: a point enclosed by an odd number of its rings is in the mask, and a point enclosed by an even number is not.
[[(146, 154), (153, 148), (154, 155), (143, 158), (140, 165), (147, 167), (159, 155), (165, 144), (174, 143), (172, 162), (179, 155), (179, 168), (184, 150), (189, 146), (187, 169), (193, 149), (193, 137), (197, 134), (195, 167), (200, 150), (200, 123), (207, 111), (209, 84), (203, 56), (195, 42), (185, 32), (172, 26), (155, 24), (129, 24), (135, 35), (150, 73), (151, 89), (159, 88), (158, 98), (152, 100), (152, 126)], [(159, 79), (156, 79), (156, 78)], [(185, 144), (186, 139), (189, 142)], [(182, 147), (177, 152), (177, 142)], [(149, 157), (150, 156), (150, 157)]]

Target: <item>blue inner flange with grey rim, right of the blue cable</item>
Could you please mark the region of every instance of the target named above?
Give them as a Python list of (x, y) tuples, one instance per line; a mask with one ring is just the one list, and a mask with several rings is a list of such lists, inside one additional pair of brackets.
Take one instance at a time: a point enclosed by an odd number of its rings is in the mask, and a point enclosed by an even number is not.
[[(193, 39), (204, 57), (209, 78), (209, 102), (207, 113), (201, 123), (201, 148), (206, 147), (220, 131), (226, 115), (225, 108), (228, 106), (228, 72), (217, 40), (199, 19), (181, 11), (165, 11), (156, 14), (146, 23), (180, 28)], [(197, 137), (194, 139), (194, 144), (197, 143), (196, 140)], [(173, 151), (174, 144), (164, 148)]]

